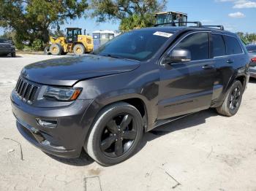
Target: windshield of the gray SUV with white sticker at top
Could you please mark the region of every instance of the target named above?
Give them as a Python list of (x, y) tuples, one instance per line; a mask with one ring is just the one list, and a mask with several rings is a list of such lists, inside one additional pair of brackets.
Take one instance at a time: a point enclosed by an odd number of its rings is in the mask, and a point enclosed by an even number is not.
[(171, 35), (159, 31), (129, 31), (103, 44), (93, 54), (146, 61)]

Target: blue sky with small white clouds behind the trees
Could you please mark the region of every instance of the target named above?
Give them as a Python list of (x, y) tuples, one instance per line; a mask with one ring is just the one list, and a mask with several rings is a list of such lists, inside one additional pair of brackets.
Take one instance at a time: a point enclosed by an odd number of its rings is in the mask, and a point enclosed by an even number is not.
[[(185, 12), (189, 21), (201, 21), (205, 25), (223, 25), (233, 32), (256, 33), (256, 0), (169, 0), (165, 11)], [(95, 19), (81, 17), (70, 20), (66, 27), (79, 27), (91, 34), (97, 30), (118, 30), (119, 22), (97, 23)], [(3, 29), (0, 28), (0, 34)]]

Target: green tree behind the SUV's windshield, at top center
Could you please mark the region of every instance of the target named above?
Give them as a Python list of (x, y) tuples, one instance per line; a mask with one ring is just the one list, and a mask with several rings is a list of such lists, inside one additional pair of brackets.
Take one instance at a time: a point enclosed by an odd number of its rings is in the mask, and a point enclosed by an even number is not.
[(154, 24), (154, 12), (165, 8), (165, 0), (92, 0), (91, 16), (98, 22), (121, 21), (119, 29), (129, 31)]

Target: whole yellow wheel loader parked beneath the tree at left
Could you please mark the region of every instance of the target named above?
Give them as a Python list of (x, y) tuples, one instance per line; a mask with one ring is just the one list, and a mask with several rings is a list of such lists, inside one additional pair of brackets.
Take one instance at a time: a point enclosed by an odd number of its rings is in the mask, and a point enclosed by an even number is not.
[(67, 36), (54, 38), (50, 36), (50, 43), (45, 47), (45, 54), (66, 55), (75, 53), (83, 55), (94, 50), (93, 39), (91, 36), (82, 35), (81, 28), (67, 28)]

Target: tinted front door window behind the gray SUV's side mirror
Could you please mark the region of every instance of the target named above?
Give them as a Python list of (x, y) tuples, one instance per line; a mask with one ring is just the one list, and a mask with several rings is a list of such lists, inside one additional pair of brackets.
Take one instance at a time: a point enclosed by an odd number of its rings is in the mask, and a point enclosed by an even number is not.
[(176, 49), (185, 49), (191, 52), (192, 61), (209, 58), (208, 33), (196, 33), (183, 39)]

